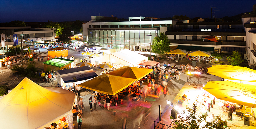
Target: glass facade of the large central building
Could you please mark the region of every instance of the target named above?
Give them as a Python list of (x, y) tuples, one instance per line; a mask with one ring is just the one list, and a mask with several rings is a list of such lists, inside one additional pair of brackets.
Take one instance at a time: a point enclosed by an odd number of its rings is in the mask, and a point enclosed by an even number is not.
[(151, 42), (159, 35), (159, 28), (88, 28), (88, 44), (115, 48), (116, 51), (150, 52)]

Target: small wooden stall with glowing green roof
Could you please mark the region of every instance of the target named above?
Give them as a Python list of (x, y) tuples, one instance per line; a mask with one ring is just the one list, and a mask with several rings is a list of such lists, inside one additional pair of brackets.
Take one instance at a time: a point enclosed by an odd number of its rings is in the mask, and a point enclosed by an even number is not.
[(44, 63), (44, 71), (48, 72), (51, 70), (62, 70), (64, 68), (71, 68), (71, 63), (73, 60), (63, 59), (63, 58), (55, 58), (49, 61), (45, 61)]

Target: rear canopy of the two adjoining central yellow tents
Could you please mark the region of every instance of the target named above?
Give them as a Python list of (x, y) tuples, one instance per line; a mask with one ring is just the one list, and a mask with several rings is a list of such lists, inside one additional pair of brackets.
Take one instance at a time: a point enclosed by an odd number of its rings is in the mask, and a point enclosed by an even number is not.
[(114, 70), (107, 74), (140, 80), (150, 72), (152, 72), (152, 69), (123, 66), (122, 68), (118, 68), (117, 70)]

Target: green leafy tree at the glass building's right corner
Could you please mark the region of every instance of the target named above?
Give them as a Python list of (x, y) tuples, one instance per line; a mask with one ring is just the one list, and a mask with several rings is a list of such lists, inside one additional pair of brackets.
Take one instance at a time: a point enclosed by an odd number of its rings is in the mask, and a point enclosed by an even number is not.
[(168, 53), (171, 50), (171, 42), (167, 35), (160, 33), (158, 37), (154, 37), (151, 45), (151, 52), (163, 56), (164, 53)]

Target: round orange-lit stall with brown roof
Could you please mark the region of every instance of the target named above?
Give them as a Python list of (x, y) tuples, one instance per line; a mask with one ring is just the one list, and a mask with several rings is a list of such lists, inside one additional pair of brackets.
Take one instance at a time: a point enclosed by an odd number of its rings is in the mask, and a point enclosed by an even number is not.
[(47, 51), (48, 51), (48, 56), (51, 58), (68, 56), (68, 48), (64, 48), (64, 47), (55, 47), (52, 49), (48, 49)]

